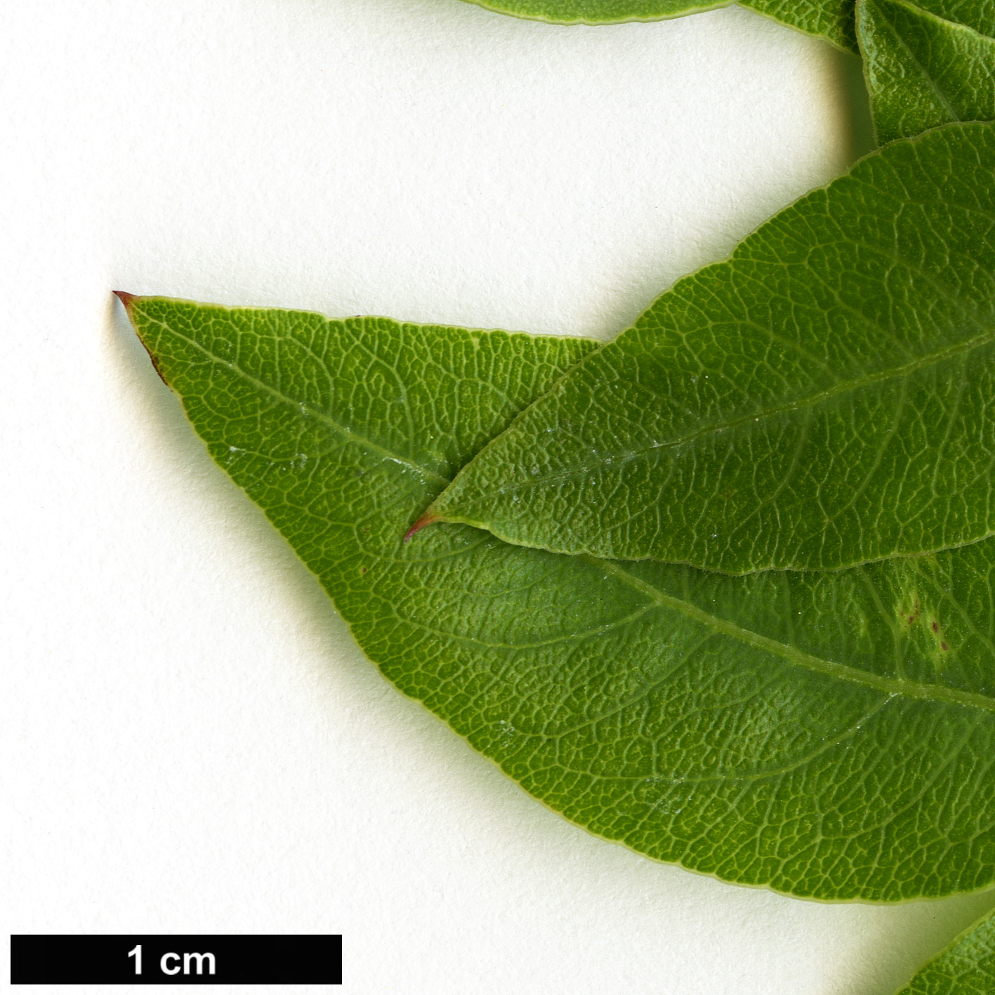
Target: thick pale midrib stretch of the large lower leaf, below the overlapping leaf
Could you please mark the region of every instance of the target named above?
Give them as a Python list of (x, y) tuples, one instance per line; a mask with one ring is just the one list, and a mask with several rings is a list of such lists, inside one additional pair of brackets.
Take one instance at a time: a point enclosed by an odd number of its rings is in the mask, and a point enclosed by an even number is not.
[(886, 678), (878, 674), (871, 674), (868, 671), (859, 670), (856, 667), (848, 667), (846, 664), (838, 664), (832, 660), (814, 657), (811, 654), (803, 653), (793, 646), (788, 646), (786, 643), (779, 643), (775, 639), (770, 639), (767, 636), (761, 636), (759, 633), (743, 629), (734, 622), (717, 618), (688, 601), (664, 594), (652, 584), (631, 574), (614, 560), (599, 559), (597, 556), (591, 556), (589, 553), (581, 553), (580, 556), (598, 569), (607, 571), (617, 580), (640, 591), (661, 607), (680, 612), (682, 615), (694, 619), (715, 632), (731, 636), (740, 642), (748, 643), (758, 649), (765, 650), (795, 666), (804, 667), (840, 681), (848, 681), (851, 684), (861, 684), (875, 688), (889, 696), (901, 695), (920, 700), (939, 701), (945, 704), (963, 705), (995, 712), (995, 698), (993, 697), (974, 692), (958, 691), (942, 685), (922, 685), (914, 681)]

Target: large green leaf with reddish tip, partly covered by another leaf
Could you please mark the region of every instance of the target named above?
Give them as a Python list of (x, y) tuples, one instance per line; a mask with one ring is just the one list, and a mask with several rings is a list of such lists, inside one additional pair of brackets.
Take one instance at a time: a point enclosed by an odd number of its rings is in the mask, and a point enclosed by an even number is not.
[(726, 577), (403, 536), (594, 344), (127, 298), (214, 459), (365, 653), (590, 831), (819, 898), (995, 880), (995, 540)]

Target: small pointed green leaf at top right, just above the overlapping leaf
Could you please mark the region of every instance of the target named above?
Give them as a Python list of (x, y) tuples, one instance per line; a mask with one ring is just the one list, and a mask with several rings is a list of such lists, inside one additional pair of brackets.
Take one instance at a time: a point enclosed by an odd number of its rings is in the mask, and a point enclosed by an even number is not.
[(903, 0), (859, 0), (857, 20), (879, 142), (995, 118), (995, 39)]

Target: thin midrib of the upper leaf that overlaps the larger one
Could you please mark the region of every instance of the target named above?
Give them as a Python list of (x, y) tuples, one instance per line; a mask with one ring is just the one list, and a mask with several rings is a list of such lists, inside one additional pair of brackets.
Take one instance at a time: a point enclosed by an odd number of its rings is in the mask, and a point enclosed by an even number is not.
[[(820, 391), (817, 394), (812, 394), (809, 397), (799, 398), (795, 401), (787, 401), (784, 404), (754, 411), (751, 414), (741, 415), (738, 418), (731, 418), (724, 422), (716, 422), (712, 425), (697, 429), (688, 435), (682, 436), (680, 439), (673, 439), (660, 443), (651, 443), (650, 445), (639, 447), (638, 449), (632, 450), (625, 454), (606, 456), (605, 458), (598, 460), (596, 463), (570, 467), (565, 470), (556, 471), (552, 474), (529, 477), (522, 481), (516, 481), (498, 488), (485, 490), (481, 492), (481, 497), (492, 497), (508, 494), (514, 491), (523, 491), (529, 488), (550, 484), (554, 481), (565, 480), (567, 478), (574, 477), (577, 474), (587, 473), (600, 467), (630, 463), (642, 456), (646, 456), (648, 453), (654, 453), (658, 450), (674, 449), (677, 446), (685, 446), (688, 443), (695, 442), (703, 436), (724, 432), (727, 429), (736, 429), (741, 425), (747, 425), (768, 418), (774, 418), (777, 415), (786, 414), (791, 411), (803, 411), (806, 408), (815, 408), (823, 402), (832, 400), (834, 397), (841, 394), (856, 392), (877, 383), (884, 383), (888, 380), (895, 380), (899, 377), (908, 376), (920, 369), (925, 369), (926, 367), (932, 365), (938, 365), (939, 363), (945, 362), (947, 359), (952, 359), (958, 355), (972, 352), (974, 349), (979, 349), (982, 346), (990, 344), (993, 340), (995, 340), (995, 329), (989, 329), (984, 332), (984, 334), (977, 335), (974, 338), (968, 339), (966, 342), (958, 342), (956, 345), (953, 345), (942, 352), (936, 352), (929, 356), (921, 356), (918, 359), (914, 359), (903, 366), (897, 366), (891, 370), (882, 370), (878, 373), (869, 373), (864, 377), (843, 381), (828, 388), (827, 390)], [(597, 353), (594, 354), (596, 355)], [(468, 469), (470, 466), (473, 466), (473, 461), (468, 465)], [(445, 516), (445, 512), (443, 513), (443, 516)]]

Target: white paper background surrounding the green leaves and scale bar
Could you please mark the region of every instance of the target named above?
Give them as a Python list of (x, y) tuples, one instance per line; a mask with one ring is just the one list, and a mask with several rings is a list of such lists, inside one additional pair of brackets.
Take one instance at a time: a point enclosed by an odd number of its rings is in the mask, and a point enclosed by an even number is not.
[(0, 18), (5, 932), (341, 932), (354, 993), (889, 995), (991, 904), (732, 888), (548, 812), (379, 677), (110, 297), (607, 337), (853, 160), (850, 61), (739, 9)]

